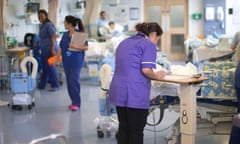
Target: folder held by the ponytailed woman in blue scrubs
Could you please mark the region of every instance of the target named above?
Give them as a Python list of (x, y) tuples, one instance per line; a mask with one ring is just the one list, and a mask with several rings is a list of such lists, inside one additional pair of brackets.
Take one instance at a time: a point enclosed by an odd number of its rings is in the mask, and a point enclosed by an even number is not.
[[(71, 42), (79, 45), (79, 46), (83, 46), (85, 45), (86, 41), (88, 38), (88, 34), (84, 33), (84, 32), (74, 32), (74, 34), (72, 35), (72, 39)], [(80, 51), (78, 49), (74, 49), (74, 48), (69, 48), (69, 50), (71, 51)]]

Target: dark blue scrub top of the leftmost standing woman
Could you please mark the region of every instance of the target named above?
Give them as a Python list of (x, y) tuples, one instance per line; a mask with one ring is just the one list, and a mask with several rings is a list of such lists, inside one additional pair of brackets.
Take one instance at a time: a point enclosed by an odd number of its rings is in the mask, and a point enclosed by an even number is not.
[[(45, 22), (40, 27), (40, 48), (42, 53), (51, 52), (51, 35), (56, 34), (56, 28), (51, 22)], [(55, 50), (57, 50), (57, 40), (55, 39)]]

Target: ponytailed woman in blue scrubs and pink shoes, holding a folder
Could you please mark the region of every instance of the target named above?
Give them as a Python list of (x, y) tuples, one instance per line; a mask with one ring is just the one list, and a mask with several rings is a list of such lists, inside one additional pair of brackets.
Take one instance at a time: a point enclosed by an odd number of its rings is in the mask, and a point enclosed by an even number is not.
[[(71, 41), (75, 31), (84, 32), (81, 19), (68, 15), (65, 17), (64, 26), (68, 31), (62, 36), (58, 56), (62, 55), (67, 90), (71, 99), (69, 109), (77, 111), (81, 106), (80, 72), (84, 63), (85, 50), (88, 49), (88, 46), (87, 42), (84, 45), (77, 45)], [(78, 29), (75, 29), (76, 26), (78, 26)]]

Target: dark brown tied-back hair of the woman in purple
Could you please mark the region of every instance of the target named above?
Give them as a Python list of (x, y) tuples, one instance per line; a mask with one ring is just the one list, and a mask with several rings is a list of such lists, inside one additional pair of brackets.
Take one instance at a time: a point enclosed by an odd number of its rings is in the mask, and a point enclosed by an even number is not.
[(150, 22), (150, 23), (139, 23), (135, 26), (135, 29), (137, 32), (142, 32), (145, 35), (149, 36), (151, 32), (156, 32), (157, 36), (161, 36), (163, 33), (163, 30), (161, 26), (158, 23)]

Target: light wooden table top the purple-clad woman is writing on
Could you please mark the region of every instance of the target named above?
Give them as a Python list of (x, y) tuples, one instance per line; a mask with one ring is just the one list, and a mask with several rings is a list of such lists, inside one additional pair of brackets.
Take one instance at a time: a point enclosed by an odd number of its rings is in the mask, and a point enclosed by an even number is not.
[(193, 83), (201, 83), (204, 80), (208, 80), (208, 78), (206, 77), (194, 78), (192, 76), (185, 76), (185, 75), (166, 75), (160, 81), (178, 83), (178, 84), (193, 84)]

